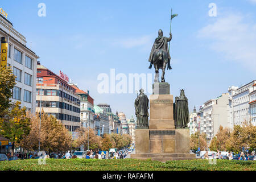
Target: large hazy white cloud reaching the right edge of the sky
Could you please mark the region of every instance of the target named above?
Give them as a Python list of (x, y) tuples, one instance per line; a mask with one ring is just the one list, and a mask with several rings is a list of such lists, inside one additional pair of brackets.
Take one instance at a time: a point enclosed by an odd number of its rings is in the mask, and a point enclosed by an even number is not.
[(200, 38), (212, 41), (210, 48), (223, 53), (231, 61), (256, 71), (256, 23), (248, 16), (228, 15), (217, 18), (199, 31)]

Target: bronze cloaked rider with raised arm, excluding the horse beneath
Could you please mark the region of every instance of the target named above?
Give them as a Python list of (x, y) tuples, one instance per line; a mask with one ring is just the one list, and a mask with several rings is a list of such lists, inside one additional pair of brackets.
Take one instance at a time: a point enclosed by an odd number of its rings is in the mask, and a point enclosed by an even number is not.
[(170, 37), (167, 38), (166, 36), (163, 36), (163, 31), (160, 29), (158, 31), (158, 38), (155, 39), (154, 45), (151, 49), (150, 52), (150, 57), (148, 59), (148, 61), (150, 61), (150, 67), (148, 67), (149, 69), (152, 68), (152, 64), (153, 63), (153, 57), (154, 55), (159, 52), (160, 49), (163, 49), (164, 51), (166, 51), (168, 53), (168, 65), (167, 65), (167, 69), (172, 69), (171, 65), (170, 65), (170, 60), (171, 60), (171, 56), (170, 56), (170, 52), (168, 49), (168, 42), (170, 42), (172, 39), (172, 34), (170, 33)]

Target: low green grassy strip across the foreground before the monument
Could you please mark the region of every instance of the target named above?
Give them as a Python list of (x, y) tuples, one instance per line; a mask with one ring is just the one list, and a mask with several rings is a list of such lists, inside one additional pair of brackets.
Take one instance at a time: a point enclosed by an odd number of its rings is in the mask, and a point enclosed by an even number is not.
[(209, 164), (208, 160), (172, 160), (166, 163), (138, 159), (98, 160), (98, 159), (46, 159), (46, 165), (39, 165), (38, 159), (12, 160), (0, 162), (2, 171), (255, 171), (255, 161), (217, 160)]

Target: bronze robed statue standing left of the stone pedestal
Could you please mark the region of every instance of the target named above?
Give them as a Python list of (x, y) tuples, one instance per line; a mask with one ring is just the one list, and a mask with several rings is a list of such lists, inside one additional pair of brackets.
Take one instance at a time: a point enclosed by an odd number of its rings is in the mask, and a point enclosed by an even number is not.
[(137, 117), (137, 129), (148, 129), (148, 98), (146, 94), (143, 93), (144, 90), (139, 90), (139, 96), (136, 98), (135, 114)]

